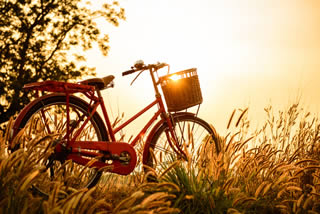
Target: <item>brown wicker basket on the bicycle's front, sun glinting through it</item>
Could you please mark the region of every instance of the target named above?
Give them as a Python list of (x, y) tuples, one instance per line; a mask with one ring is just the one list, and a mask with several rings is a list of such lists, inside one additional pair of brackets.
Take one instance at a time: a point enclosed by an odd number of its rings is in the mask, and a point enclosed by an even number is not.
[[(177, 78), (177, 80), (174, 80)], [(168, 111), (181, 111), (202, 103), (197, 69), (191, 68), (159, 78)]]

